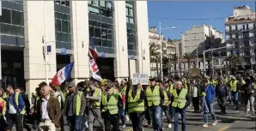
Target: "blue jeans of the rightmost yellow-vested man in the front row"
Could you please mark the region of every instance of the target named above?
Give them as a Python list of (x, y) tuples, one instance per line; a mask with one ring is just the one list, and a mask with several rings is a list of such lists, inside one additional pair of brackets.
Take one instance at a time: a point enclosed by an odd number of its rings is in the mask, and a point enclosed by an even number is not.
[(181, 130), (186, 131), (186, 109), (179, 109), (178, 107), (173, 107), (174, 112), (174, 131), (179, 130), (179, 114), (181, 114)]

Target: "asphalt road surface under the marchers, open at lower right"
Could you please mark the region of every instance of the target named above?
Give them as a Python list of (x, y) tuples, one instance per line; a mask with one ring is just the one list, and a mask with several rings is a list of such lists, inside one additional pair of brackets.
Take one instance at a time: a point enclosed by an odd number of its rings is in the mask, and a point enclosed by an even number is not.
[[(186, 130), (187, 131), (256, 131), (256, 117), (251, 114), (245, 114), (244, 108), (240, 107), (240, 110), (233, 110), (232, 105), (227, 107), (227, 114), (220, 115), (218, 105), (214, 105), (216, 117), (218, 123), (216, 126), (212, 126), (211, 116), (209, 114), (209, 127), (203, 128), (204, 118), (201, 113), (193, 113), (192, 110), (186, 112)], [(65, 120), (65, 118), (64, 118)], [(66, 121), (64, 122), (67, 125)], [(121, 122), (120, 122), (121, 123)], [(143, 121), (146, 123), (146, 120)], [(120, 125), (121, 126), (121, 125)], [(163, 116), (164, 131), (172, 131), (173, 128), (168, 128), (168, 123), (165, 116)], [(181, 125), (179, 125), (181, 130)], [(126, 122), (126, 127), (121, 128), (124, 131), (131, 131), (131, 122)], [(152, 131), (152, 128), (143, 128), (144, 131)], [(69, 130), (68, 126), (65, 126), (64, 130)], [(94, 122), (94, 130), (101, 130), (99, 123)], [(15, 131), (15, 128), (13, 128)], [(24, 129), (26, 131), (26, 129)], [(34, 131), (34, 130), (32, 130)]]

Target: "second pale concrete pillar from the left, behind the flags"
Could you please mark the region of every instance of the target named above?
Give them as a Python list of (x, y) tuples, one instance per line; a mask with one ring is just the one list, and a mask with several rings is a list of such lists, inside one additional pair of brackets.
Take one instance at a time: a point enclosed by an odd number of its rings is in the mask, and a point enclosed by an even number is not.
[(73, 51), (71, 62), (75, 61), (72, 77), (75, 79), (75, 83), (78, 83), (89, 77), (88, 1), (71, 1), (70, 9)]

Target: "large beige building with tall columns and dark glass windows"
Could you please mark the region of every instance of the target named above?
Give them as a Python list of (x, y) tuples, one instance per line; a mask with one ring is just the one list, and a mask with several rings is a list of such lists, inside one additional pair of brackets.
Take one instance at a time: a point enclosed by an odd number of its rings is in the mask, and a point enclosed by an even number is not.
[[(31, 94), (46, 72), (51, 81), (73, 61), (71, 78), (88, 79), (89, 38), (100, 56), (102, 78), (150, 75), (145, 1), (2, 1), (2, 10), (2, 84), (26, 86)], [(51, 50), (47, 71), (43, 42)]]

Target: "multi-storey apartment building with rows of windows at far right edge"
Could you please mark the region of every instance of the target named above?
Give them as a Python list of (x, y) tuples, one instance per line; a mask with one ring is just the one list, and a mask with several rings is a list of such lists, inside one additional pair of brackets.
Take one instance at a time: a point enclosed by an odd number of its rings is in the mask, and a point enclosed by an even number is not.
[(255, 11), (244, 5), (235, 7), (225, 22), (227, 56), (241, 57), (239, 70), (256, 70)]

